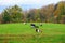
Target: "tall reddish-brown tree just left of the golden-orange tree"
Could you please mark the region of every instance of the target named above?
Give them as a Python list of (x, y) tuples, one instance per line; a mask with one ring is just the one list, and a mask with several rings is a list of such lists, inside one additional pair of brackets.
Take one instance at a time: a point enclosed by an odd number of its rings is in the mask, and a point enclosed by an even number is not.
[(40, 11), (41, 11), (41, 17), (43, 18), (43, 22), (51, 23), (53, 18), (54, 4), (42, 6)]

